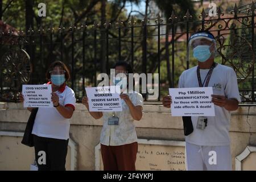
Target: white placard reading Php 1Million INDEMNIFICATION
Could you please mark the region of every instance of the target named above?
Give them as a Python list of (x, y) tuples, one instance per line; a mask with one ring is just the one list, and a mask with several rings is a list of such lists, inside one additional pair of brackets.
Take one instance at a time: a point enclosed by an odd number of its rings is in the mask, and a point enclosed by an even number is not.
[(215, 116), (212, 87), (169, 88), (172, 116)]

